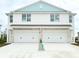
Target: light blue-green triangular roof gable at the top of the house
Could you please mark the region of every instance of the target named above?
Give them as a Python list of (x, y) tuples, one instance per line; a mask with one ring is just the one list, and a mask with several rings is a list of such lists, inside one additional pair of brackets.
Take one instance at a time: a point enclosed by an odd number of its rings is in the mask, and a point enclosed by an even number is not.
[(46, 2), (39, 1), (29, 6), (25, 6), (15, 12), (66, 12), (66, 10), (50, 5)]

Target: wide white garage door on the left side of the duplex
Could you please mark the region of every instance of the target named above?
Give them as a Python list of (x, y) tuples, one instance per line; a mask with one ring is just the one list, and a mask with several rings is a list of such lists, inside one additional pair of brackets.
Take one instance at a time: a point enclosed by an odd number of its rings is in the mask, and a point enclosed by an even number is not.
[(14, 30), (14, 42), (38, 42), (38, 30)]

